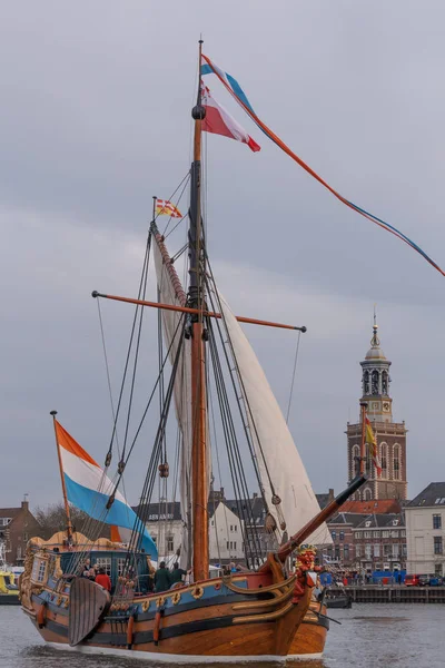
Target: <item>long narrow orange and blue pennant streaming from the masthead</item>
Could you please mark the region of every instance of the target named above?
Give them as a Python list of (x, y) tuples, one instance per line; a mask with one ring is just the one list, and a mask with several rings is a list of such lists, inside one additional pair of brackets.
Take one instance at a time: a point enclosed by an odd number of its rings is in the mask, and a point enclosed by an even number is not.
[(244, 92), (243, 88), (239, 86), (238, 81), (236, 79), (234, 79), (234, 77), (231, 77), (230, 75), (228, 75), (227, 72), (221, 70), (217, 65), (215, 65), (215, 62), (212, 62), (210, 60), (210, 58), (208, 58), (207, 56), (205, 56), (202, 53), (201, 75), (208, 75), (208, 73), (215, 73), (218, 77), (218, 79), (220, 80), (220, 82), (222, 84), (222, 86), (229, 91), (229, 94), (236, 99), (236, 101), (240, 105), (240, 107), (243, 107), (243, 109), (251, 118), (251, 120), (263, 130), (263, 132), (265, 135), (267, 135), (267, 137), (269, 137), (269, 139), (271, 139), (293, 160), (295, 160), (300, 167), (303, 167), (303, 169), (305, 169), (305, 171), (310, 174), (310, 176), (313, 176), (318, 183), (320, 183), (325, 188), (327, 188), (329, 190), (329, 193), (332, 193), (337, 199), (339, 199), (343, 204), (345, 204), (350, 209), (360, 214), (360, 216), (363, 216), (364, 218), (367, 218), (372, 223), (375, 223), (383, 229), (386, 229), (386, 232), (389, 232), (394, 236), (396, 236), (399, 239), (402, 239), (403, 242), (405, 242), (405, 244), (407, 244), (414, 250), (419, 253), (435, 269), (437, 269), (437, 272), (439, 272), (443, 276), (445, 276), (445, 272), (419, 246), (417, 246), (417, 244), (415, 242), (413, 242), (409, 237), (407, 237), (403, 232), (400, 232), (393, 225), (389, 225), (389, 223), (386, 223), (382, 218), (374, 216), (374, 214), (370, 214), (369, 212), (367, 212), (366, 209), (354, 204), (349, 199), (346, 199), (346, 197), (344, 197), (335, 188), (329, 186), (329, 184), (327, 181), (325, 181), (316, 171), (314, 171), (314, 169), (312, 169), (312, 167), (309, 167), (309, 165), (307, 165), (304, 160), (301, 160), (300, 157), (298, 157), (275, 132), (273, 132), (273, 130), (270, 130), (270, 128), (268, 128), (258, 118), (258, 116), (255, 114), (249, 100), (247, 99), (246, 94)]

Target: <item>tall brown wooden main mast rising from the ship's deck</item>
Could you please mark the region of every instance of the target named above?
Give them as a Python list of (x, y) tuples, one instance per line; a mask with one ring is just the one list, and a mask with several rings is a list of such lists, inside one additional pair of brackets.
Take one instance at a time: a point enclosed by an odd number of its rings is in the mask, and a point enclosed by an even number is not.
[(201, 105), (200, 67), (202, 40), (199, 40), (198, 97), (191, 111), (195, 120), (194, 161), (191, 164), (190, 226), (188, 248), (190, 259), (189, 304), (198, 313), (191, 316), (191, 489), (192, 489), (192, 543), (194, 578), (206, 580), (209, 576), (208, 548), (208, 489), (207, 489), (207, 404), (206, 354), (204, 346), (205, 295), (204, 238), (201, 224), (201, 124), (206, 110)]

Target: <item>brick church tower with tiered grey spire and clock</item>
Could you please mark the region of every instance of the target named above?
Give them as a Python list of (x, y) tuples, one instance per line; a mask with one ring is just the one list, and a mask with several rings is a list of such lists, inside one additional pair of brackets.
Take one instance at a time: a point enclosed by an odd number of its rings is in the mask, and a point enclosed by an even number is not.
[[(373, 338), (362, 366), (362, 397), (367, 403), (367, 415), (377, 440), (378, 459), (382, 473), (367, 453), (365, 472), (368, 481), (355, 499), (406, 499), (406, 428), (405, 422), (394, 422), (393, 400), (389, 396), (389, 366), (380, 348), (377, 336), (377, 323), (374, 315)], [(362, 424), (347, 423), (348, 480), (353, 480), (359, 470)]]

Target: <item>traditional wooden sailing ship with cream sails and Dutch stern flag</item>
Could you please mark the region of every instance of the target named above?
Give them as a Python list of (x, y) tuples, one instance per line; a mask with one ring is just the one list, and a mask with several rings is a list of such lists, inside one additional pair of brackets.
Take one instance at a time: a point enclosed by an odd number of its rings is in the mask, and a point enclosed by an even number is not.
[[(186, 658), (190, 662), (319, 658), (328, 620), (325, 607), (313, 597), (319, 570), (313, 543), (328, 542), (326, 520), (365, 478), (357, 477), (324, 510), (319, 509), (286, 420), (240, 323), (304, 328), (236, 316), (217, 287), (207, 254), (201, 207), (201, 134), (216, 131), (206, 125), (204, 95), (208, 96), (208, 89), (199, 85), (192, 109), (188, 286), (181, 284), (176, 257), (169, 254), (157, 224), (157, 212), (164, 214), (168, 208), (172, 217), (181, 218), (179, 209), (169, 202), (159, 205), (155, 199), (138, 298), (93, 293), (96, 298), (136, 304), (135, 370), (145, 307), (158, 310), (162, 330), (159, 374), (154, 386), (154, 392), (159, 393), (160, 416), (138, 514), (118, 490), (132, 446), (127, 452), (123, 445), (116, 474), (109, 477), (118, 414), (101, 469), (52, 412), (67, 530), (49, 541), (34, 538), (29, 542), (20, 580), (22, 609), (46, 641), (85, 652), (171, 661)], [(249, 144), (246, 137), (241, 140)], [(158, 291), (154, 302), (146, 299), (150, 250)], [(132, 389), (134, 382), (131, 396)], [(148, 403), (152, 396), (154, 393)], [(169, 477), (166, 441), (172, 404), (178, 423), (176, 470), (182, 518), (179, 559), (184, 568), (191, 570), (191, 580), (159, 592), (151, 590), (151, 582), (155, 562), (161, 554), (145, 525), (155, 482), (158, 480), (161, 487)], [(119, 400), (116, 413), (120, 405)], [(217, 419), (212, 416), (216, 409)], [(238, 512), (244, 520), (247, 566), (243, 571), (216, 577), (209, 571), (208, 525), (212, 421), (215, 440), (217, 424), (227, 451)], [(247, 461), (266, 509), (265, 558), (255, 524), (249, 521)], [(98, 538), (88, 521), (89, 532), (77, 531), (70, 521), (69, 501), (97, 523), (111, 524), (111, 540)], [(95, 564), (107, 570), (111, 591), (82, 577), (86, 568)]]

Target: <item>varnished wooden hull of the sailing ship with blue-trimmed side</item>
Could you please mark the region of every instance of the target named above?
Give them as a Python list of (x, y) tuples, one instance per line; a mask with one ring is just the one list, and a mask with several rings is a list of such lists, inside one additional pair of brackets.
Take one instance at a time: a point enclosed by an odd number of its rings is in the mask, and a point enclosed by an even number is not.
[[(75, 649), (187, 661), (279, 660), (316, 654), (323, 632), (314, 623), (299, 631), (310, 588), (296, 599), (295, 578), (260, 588), (249, 579), (247, 574), (208, 580), (115, 603)], [(23, 610), (47, 642), (70, 648), (69, 593), (57, 596), (42, 588)]]

